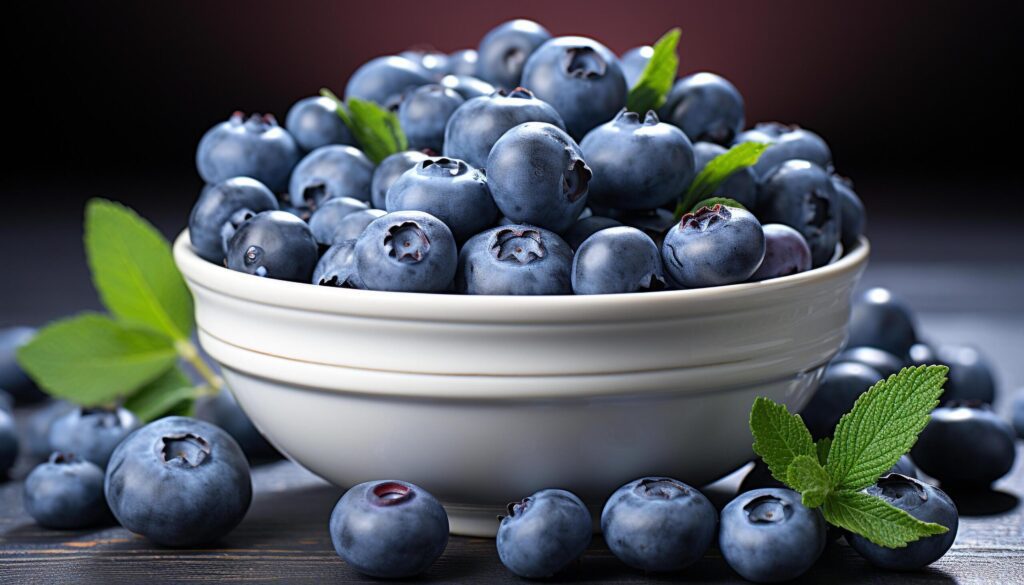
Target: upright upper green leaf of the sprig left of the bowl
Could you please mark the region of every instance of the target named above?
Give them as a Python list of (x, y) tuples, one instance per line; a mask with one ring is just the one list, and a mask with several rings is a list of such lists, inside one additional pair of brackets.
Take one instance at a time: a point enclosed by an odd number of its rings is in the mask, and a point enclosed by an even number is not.
[(171, 246), (150, 222), (112, 201), (85, 208), (85, 252), (92, 282), (115, 317), (188, 339), (193, 299), (174, 265)]

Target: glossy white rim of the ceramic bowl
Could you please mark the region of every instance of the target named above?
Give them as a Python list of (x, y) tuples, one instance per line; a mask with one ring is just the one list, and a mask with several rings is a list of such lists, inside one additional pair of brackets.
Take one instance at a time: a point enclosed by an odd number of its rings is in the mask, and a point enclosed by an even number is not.
[(173, 255), (189, 286), (262, 305), (309, 312), (375, 319), (466, 323), (614, 322), (664, 317), (665, 311), (698, 312), (716, 307), (755, 306), (763, 295), (815, 288), (863, 269), (870, 252), (861, 237), (834, 263), (767, 281), (702, 289), (603, 295), (460, 295), (410, 293), (322, 287), (301, 282), (260, 278), (228, 269), (201, 258), (193, 250), (188, 229), (174, 241)]

